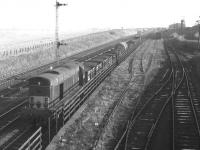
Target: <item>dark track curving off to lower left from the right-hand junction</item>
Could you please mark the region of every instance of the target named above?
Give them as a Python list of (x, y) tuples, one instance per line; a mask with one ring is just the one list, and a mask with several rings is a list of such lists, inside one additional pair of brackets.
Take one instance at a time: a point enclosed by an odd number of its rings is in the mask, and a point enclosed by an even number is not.
[(125, 149), (145, 149), (159, 118), (171, 99), (172, 75), (141, 108), (137, 108), (126, 130)]

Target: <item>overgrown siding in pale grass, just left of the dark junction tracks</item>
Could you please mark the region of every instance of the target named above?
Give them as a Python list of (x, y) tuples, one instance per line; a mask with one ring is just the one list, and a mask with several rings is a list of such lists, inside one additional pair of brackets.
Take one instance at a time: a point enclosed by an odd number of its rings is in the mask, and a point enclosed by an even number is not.
[[(158, 79), (158, 76), (154, 70), (151, 70), (150, 67), (151, 61), (154, 63), (162, 64), (165, 60), (164, 49), (160, 50), (160, 53), (155, 53), (153, 57), (149, 57), (149, 53), (153, 53), (159, 44), (162, 44), (163, 41), (147, 41), (146, 44), (138, 49), (138, 52), (135, 54), (133, 61), (133, 77), (127, 89), (127, 92), (124, 95), (122, 103), (119, 105), (118, 109), (113, 113), (112, 121), (110, 125), (106, 128), (106, 131), (103, 133), (102, 138), (100, 139), (98, 146), (95, 150), (102, 149), (114, 149), (117, 141), (122, 136), (124, 129), (128, 124), (132, 113), (136, 110), (137, 103), (140, 102), (140, 96), (142, 95), (145, 87), (149, 84), (155, 77)], [(162, 59), (156, 59), (158, 56)], [(136, 59), (137, 58), (137, 59)], [(156, 69), (161, 67), (157, 65)], [(148, 74), (147, 74), (148, 73)], [(151, 79), (149, 79), (151, 77)], [(148, 81), (145, 83), (145, 81)], [(153, 86), (151, 86), (153, 88)], [(147, 96), (149, 97), (149, 96)]]

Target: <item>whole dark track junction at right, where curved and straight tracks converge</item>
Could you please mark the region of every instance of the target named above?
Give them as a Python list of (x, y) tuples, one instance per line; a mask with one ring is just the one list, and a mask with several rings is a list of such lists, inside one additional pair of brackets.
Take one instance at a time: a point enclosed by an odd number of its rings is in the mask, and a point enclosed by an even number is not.
[[(149, 96), (148, 90), (144, 92), (145, 97), (140, 99), (132, 113), (126, 129), (115, 144), (115, 150), (200, 149), (200, 102), (189, 75), (189, 66), (182, 61), (183, 56), (176, 49), (168, 45), (165, 48), (169, 67), (163, 72), (162, 80), (155, 81), (156, 92), (152, 96)], [(166, 109), (170, 115), (164, 117)], [(167, 124), (160, 123), (162, 118), (168, 120), (165, 121)], [(159, 132), (163, 133), (165, 126), (169, 126), (165, 135), (167, 138), (158, 139), (164, 135), (155, 138)], [(160, 141), (168, 143), (168, 147), (158, 144)]]

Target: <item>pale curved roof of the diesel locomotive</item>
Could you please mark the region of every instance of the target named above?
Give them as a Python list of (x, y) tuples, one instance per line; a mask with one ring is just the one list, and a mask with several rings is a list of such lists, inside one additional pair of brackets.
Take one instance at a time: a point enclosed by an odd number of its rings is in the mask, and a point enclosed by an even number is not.
[(78, 70), (79, 64), (65, 64), (53, 70), (34, 76), (29, 80), (31, 82), (37, 80), (37, 82), (45, 83), (46, 86), (56, 86), (65, 81), (66, 79), (70, 78)]

